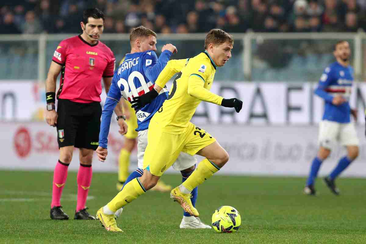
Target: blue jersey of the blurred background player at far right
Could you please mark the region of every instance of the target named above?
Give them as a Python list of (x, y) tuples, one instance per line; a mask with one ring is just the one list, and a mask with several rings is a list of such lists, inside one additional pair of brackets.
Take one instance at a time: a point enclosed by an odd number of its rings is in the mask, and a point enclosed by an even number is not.
[[(318, 88), (315, 90), (315, 94), (325, 100), (323, 120), (350, 123), (351, 108), (348, 100), (352, 90), (352, 74), (353, 68), (350, 65), (344, 67), (338, 62), (325, 68)], [(339, 106), (333, 105), (332, 100), (335, 95), (341, 95), (347, 102)]]

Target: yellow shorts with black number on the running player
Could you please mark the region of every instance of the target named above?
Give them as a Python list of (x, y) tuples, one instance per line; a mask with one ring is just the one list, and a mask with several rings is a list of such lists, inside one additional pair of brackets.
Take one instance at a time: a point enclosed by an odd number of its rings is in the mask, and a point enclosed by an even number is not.
[(179, 135), (163, 132), (155, 123), (150, 122), (147, 132), (147, 147), (143, 157), (143, 169), (149, 168), (155, 176), (161, 176), (181, 151), (190, 155), (215, 142), (209, 133), (190, 122), (186, 130)]

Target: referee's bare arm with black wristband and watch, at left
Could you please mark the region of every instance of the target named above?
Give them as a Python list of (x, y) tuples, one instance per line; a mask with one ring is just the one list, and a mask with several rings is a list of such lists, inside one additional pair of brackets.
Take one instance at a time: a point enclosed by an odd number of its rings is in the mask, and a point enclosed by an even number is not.
[[(51, 61), (51, 65), (48, 70), (46, 79), (46, 102), (48, 106), (55, 106), (56, 100), (56, 79), (60, 74), (62, 66), (58, 63)], [(46, 110), (46, 121), (47, 124), (55, 127), (57, 124), (57, 112), (55, 109)]]

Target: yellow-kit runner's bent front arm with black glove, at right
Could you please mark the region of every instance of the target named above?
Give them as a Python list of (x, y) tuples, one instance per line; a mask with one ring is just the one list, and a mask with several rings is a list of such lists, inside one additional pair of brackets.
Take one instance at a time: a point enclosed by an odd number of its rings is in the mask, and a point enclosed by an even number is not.
[(227, 108), (235, 108), (236, 112), (239, 113), (243, 106), (242, 101), (238, 98), (225, 99), (207, 90), (204, 85), (209, 72), (205, 70), (204, 72), (197, 73), (192, 73), (188, 78), (188, 94), (201, 101), (211, 102)]

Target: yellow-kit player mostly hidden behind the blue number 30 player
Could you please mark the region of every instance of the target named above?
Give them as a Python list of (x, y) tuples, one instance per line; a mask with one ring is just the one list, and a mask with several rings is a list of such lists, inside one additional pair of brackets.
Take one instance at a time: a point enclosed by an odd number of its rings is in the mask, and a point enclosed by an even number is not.
[[(124, 61), (124, 58), (120, 61), (119, 65), (121, 65)], [(137, 144), (137, 136), (138, 133), (135, 130), (137, 125), (137, 117), (135, 110), (131, 108), (131, 104), (124, 101), (124, 98), (120, 100), (123, 106), (124, 115), (126, 116), (126, 124), (128, 125), (128, 131), (124, 135), (124, 143), (123, 147), (119, 153), (118, 157), (118, 182), (116, 184), (117, 191), (120, 191), (123, 187), (124, 182), (127, 180), (127, 177), (130, 175), (128, 172), (128, 167), (130, 166), (130, 156), (132, 150), (135, 148)], [(126, 112), (128, 111), (128, 112)], [(163, 181), (159, 181), (152, 190), (167, 192), (170, 191), (172, 187), (170, 185), (165, 184)]]

